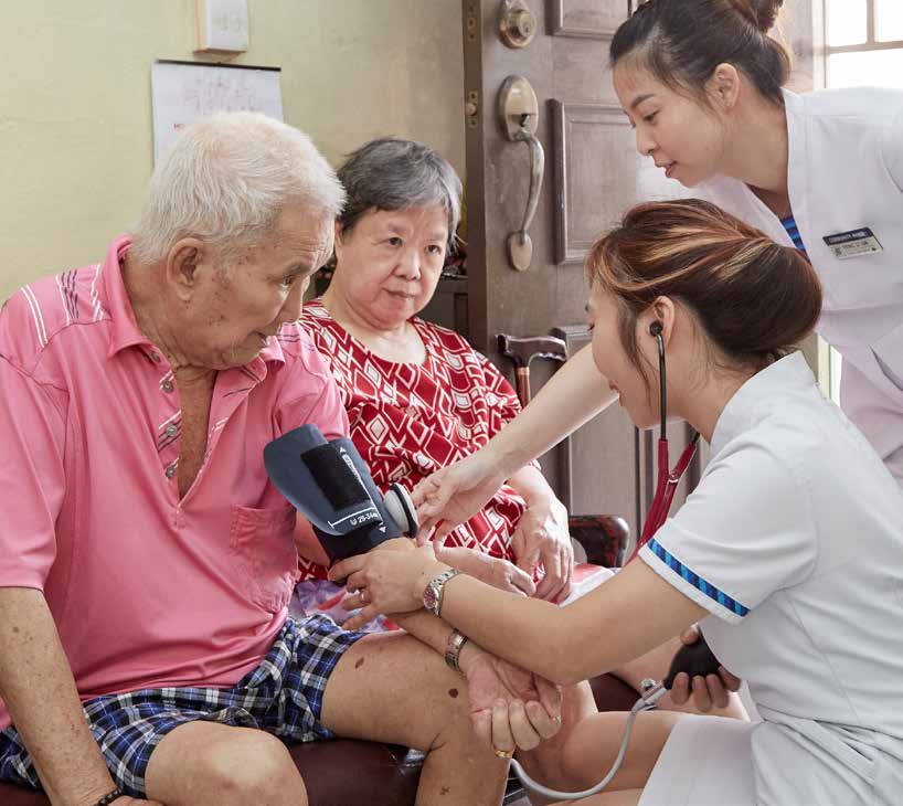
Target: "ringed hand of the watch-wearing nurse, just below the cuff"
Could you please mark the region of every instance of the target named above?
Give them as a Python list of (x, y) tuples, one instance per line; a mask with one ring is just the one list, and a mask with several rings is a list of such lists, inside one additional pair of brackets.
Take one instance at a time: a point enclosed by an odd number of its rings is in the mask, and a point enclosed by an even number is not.
[(406, 538), (389, 540), (366, 554), (336, 563), (329, 570), (329, 579), (334, 582), (347, 577), (348, 590), (358, 591), (342, 603), (342, 607), (361, 608), (342, 627), (357, 629), (380, 613), (421, 609), (424, 588), (447, 569), (436, 561), (432, 544), (414, 548)]

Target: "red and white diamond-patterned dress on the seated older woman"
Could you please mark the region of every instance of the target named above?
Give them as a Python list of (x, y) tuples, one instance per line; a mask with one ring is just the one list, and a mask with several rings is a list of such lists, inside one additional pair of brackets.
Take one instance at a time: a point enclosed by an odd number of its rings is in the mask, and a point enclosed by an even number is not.
[[(301, 324), (326, 358), (341, 393), (351, 438), (373, 480), (413, 487), (434, 470), (484, 446), (520, 411), (514, 390), (460, 336), (415, 317), (426, 347), (422, 364), (375, 356), (348, 333), (319, 300), (305, 304)], [(486, 507), (448, 537), (447, 545), (479, 547), (507, 560), (523, 499), (502, 487)], [(301, 579), (326, 570), (301, 560)]]

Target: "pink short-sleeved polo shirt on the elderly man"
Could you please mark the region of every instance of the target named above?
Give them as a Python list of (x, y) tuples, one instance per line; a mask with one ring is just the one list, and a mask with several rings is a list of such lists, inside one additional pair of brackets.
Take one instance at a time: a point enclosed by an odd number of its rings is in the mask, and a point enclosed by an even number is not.
[(304, 423), (348, 431), (322, 359), (285, 326), (217, 374), (203, 466), (180, 499), (179, 390), (135, 324), (128, 244), (0, 312), (0, 587), (44, 592), (83, 699), (232, 686), (261, 661), (298, 575), (295, 510), (264, 445)]

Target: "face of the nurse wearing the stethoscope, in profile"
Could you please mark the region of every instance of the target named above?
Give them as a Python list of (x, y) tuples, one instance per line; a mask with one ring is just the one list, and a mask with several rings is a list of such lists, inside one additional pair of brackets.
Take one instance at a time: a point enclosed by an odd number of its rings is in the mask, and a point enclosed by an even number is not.
[[(654, 426), (658, 422), (657, 380), (650, 373), (650, 393), (642, 374), (627, 356), (620, 342), (615, 297), (603, 290), (598, 283), (594, 283), (586, 312), (593, 331), (593, 360), (596, 368), (605, 375), (608, 386), (617, 392), (618, 404), (627, 411), (634, 425), (638, 428)], [(642, 321), (641, 318), (637, 319), (637, 343), (641, 356), (651, 361), (657, 356), (656, 340)]]

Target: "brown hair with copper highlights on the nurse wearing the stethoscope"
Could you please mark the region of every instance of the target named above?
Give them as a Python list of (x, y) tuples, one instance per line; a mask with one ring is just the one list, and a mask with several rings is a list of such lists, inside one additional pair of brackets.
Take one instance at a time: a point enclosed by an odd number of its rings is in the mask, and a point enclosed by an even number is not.
[(700, 199), (635, 206), (593, 245), (586, 273), (617, 300), (622, 344), (647, 383), (636, 322), (658, 297), (686, 306), (727, 361), (755, 371), (821, 312), (821, 284), (798, 250)]

